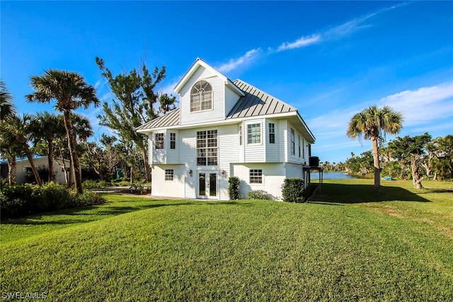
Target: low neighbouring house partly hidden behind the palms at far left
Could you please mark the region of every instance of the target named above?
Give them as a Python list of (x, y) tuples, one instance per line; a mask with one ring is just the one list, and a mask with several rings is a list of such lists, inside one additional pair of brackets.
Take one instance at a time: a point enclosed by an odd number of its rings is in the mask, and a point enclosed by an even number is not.
[[(49, 160), (47, 156), (33, 156), (33, 161), (35, 162), (35, 166), (38, 170), (40, 169), (49, 169)], [(8, 179), (8, 161), (4, 161), (2, 163), (1, 169), (1, 177)], [(4, 169), (6, 167), (6, 169)], [(67, 173), (67, 177), (69, 178), (69, 168), (70, 162), (67, 159), (60, 159), (54, 158), (54, 175), (55, 175), (55, 182), (59, 183), (66, 183), (66, 177), (64, 175), (64, 168)], [(31, 175), (33, 180), (35, 179), (33, 176), (33, 170), (31, 169), (30, 161), (27, 158), (18, 158), (16, 160), (16, 183), (21, 185), (26, 182), (27, 175)], [(43, 180), (47, 181), (47, 179)]]

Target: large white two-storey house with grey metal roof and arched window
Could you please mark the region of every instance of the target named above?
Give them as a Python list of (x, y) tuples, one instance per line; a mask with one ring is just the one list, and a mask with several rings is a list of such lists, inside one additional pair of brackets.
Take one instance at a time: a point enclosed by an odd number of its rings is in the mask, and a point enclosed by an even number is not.
[(264, 190), (281, 199), (285, 178), (304, 178), (315, 138), (296, 108), (201, 59), (175, 88), (180, 108), (137, 128), (149, 136), (152, 194), (229, 199)]

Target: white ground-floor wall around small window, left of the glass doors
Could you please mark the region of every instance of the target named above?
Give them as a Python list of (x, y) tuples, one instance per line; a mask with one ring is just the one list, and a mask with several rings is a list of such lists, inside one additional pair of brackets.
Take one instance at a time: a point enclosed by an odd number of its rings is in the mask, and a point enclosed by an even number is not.
[[(173, 180), (165, 180), (165, 170), (173, 170)], [(151, 194), (153, 196), (184, 197), (184, 165), (154, 165)]]

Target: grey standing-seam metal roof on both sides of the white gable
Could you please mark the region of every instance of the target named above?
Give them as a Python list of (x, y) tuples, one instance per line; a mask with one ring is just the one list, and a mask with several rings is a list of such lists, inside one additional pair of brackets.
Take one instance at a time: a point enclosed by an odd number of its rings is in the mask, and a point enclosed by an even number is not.
[[(274, 98), (272, 95), (260, 91), (260, 89), (250, 84), (235, 80), (234, 85), (239, 88), (244, 96), (241, 96), (234, 105), (233, 109), (226, 115), (226, 120), (241, 117), (258, 117), (260, 115), (272, 115), (275, 113), (297, 112), (297, 109), (287, 103)], [(178, 126), (180, 124), (180, 108), (168, 112), (166, 115), (157, 117), (154, 120), (142, 124), (137, 130), (154, 129), (161, 127)]]

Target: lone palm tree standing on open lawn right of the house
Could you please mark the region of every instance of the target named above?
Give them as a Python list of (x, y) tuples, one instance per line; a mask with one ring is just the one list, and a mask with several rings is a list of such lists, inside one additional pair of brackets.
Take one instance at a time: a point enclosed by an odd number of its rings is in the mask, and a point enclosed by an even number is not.
[(372, 142), (374, 163), (374, 194), (379, 194), (381, 168), (379, 166), (378, 143), (386, 134), (398, 134), (403, 127), (403, 115), (389, 106), (378, 108), (373, 105), (352, 117), (346, 135), (351, 139), (369, 139)]

